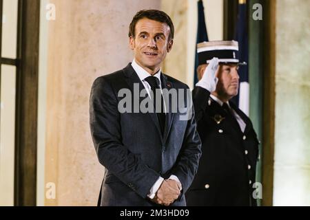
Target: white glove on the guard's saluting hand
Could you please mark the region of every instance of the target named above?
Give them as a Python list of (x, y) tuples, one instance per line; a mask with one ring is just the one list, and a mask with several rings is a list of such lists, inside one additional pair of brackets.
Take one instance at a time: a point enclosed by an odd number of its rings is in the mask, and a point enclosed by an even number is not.
[(203, 77), (196, 83), (196, 87), (203, 87), (207, 89), (210, 93), (216, 90), (216, 84), (218, 83), (218, 78), (216, 77), (216, 70), (218, 69), (218, 58), (214, 57), (211, 59)]

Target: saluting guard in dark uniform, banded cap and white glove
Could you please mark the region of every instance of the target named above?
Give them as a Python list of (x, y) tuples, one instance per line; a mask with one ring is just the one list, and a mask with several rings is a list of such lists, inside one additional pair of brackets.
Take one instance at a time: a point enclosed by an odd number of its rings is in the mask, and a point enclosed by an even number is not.
[(238, 42), (210, 41), (197, 48), (200, 80), (192, 94), (203, 153), (187, 204), (255, 206), (258, 139), (251, 120), (229, 101), (238, 94), (237, 70), (244, 64), (238, 61)]

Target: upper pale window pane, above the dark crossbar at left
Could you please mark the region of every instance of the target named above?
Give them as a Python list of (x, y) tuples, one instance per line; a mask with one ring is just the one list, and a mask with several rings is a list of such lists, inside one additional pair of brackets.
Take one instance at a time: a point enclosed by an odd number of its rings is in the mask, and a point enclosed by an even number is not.
[(18, 0), (3, 0), (2, 57), (16, 58)]

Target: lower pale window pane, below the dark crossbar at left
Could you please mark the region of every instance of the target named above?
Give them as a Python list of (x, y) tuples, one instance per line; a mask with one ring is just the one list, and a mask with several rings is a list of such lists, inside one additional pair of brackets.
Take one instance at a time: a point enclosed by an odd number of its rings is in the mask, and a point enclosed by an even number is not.
[(16, 67), (1, 65), (0, 206), (14, 206)]

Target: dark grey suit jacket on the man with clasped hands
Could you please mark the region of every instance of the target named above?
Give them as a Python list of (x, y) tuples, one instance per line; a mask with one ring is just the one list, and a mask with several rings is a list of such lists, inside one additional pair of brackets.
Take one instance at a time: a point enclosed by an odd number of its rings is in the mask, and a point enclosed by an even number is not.
[[(172, 77), (161, 76), (163, 88), (188, 88)], [(119, 113), (122, 97), (118, 97), (118, 91), (127, 88), (133, 92), (134, 83), (138, 83), (139, 91), (144, 89), (129, 64), (96, 78), (92, 85), (90, 129), (99, 162), (106, 168), (99, 204), (154, 206), (147, 199), (150, 188), (159, 176), (176, 175), (183, 192), (172, 206), (185, 206), (184, 193), (192, 183), (201, 155), (194, 116), (180, 120), (180, 113), (169, 111), (162, 135), (156, 113)]]

